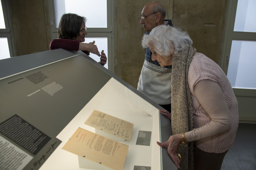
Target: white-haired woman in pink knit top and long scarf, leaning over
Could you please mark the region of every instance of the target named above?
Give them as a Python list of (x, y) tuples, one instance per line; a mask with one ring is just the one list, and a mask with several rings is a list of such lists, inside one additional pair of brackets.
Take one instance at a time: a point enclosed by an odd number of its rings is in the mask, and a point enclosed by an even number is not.
[(168, 154), (179, 169), (221, 169), (233, 145), (238, 127), (238, 104), (221, 67), (192, 47), (185, 31), (157, 26), (142, 39), (150, 47), (152, 60), (161, 67), (172, 65), (171, 120)]

